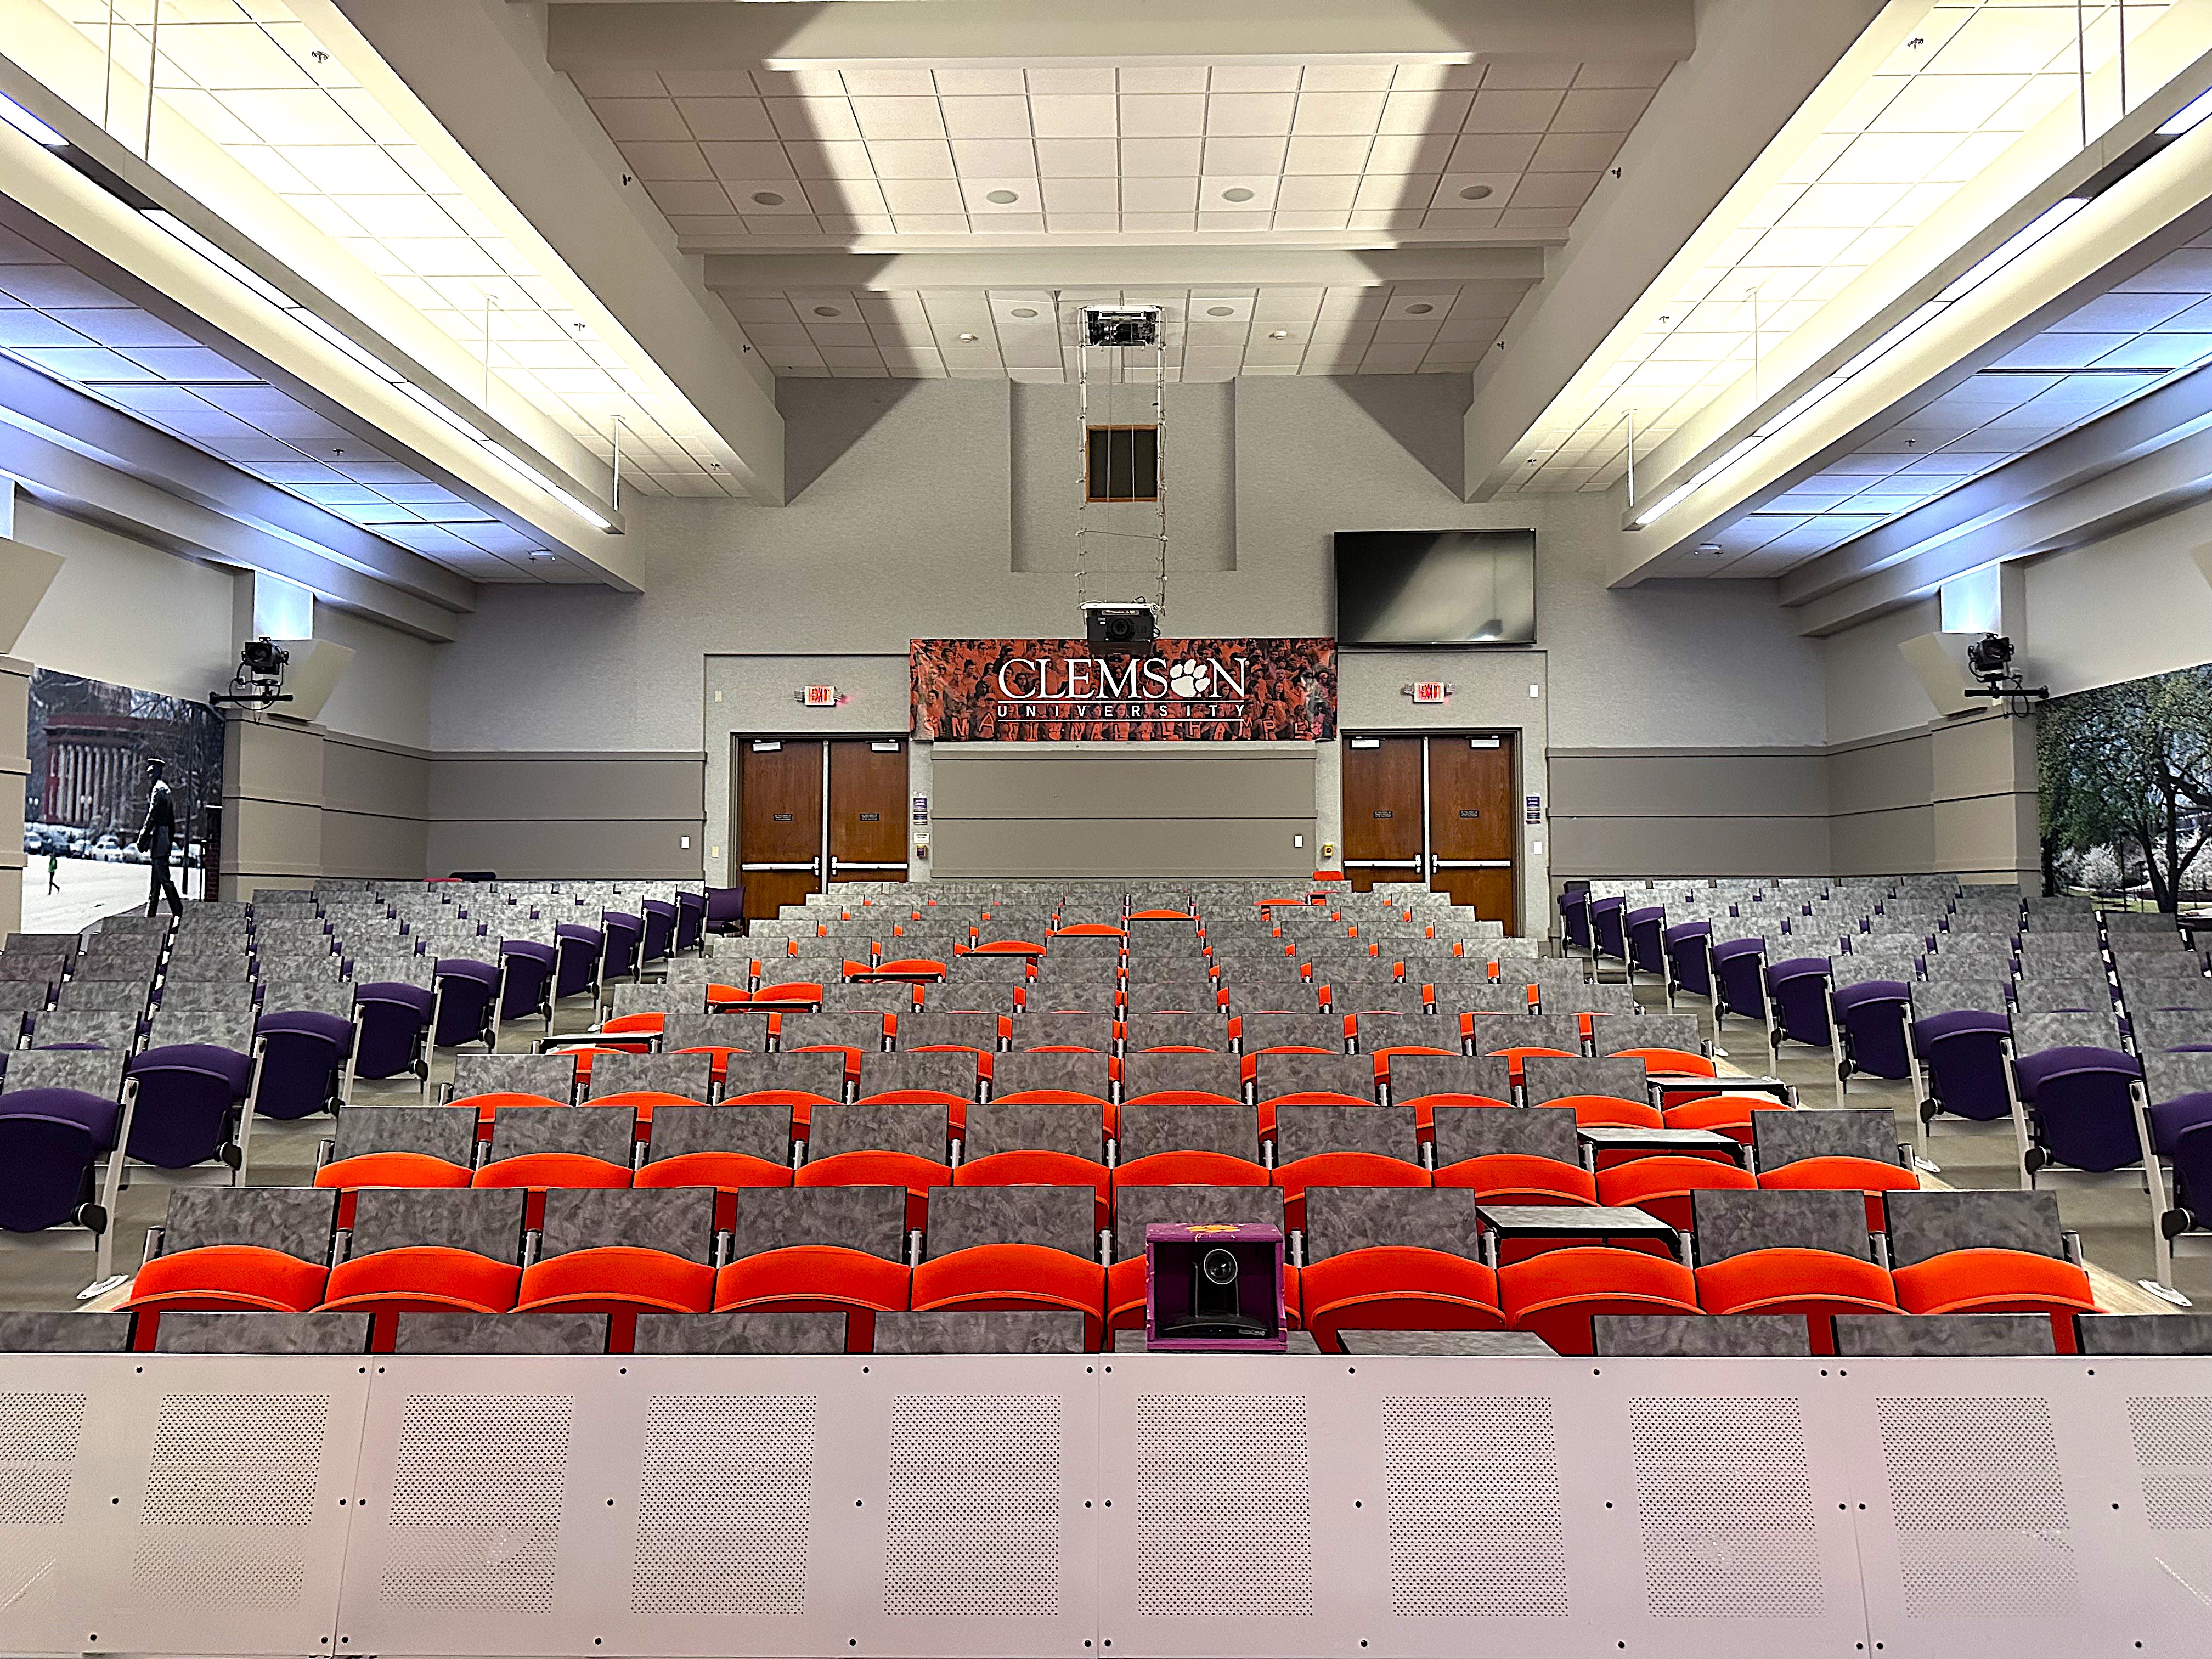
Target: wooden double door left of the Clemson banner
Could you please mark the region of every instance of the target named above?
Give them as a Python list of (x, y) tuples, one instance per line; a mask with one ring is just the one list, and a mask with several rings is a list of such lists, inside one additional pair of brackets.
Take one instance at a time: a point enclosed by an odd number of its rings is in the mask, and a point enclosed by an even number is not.
[(841, 880), (905, 880), (907, 741), (741, 737), (732, 852), (748, 918)]

